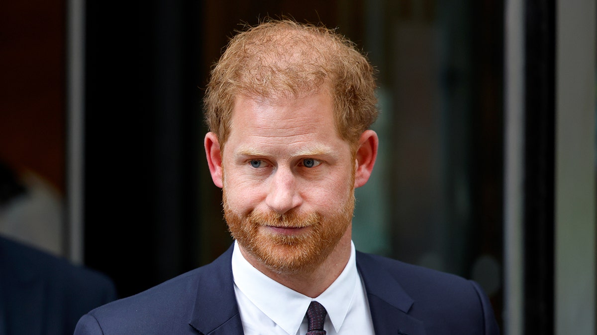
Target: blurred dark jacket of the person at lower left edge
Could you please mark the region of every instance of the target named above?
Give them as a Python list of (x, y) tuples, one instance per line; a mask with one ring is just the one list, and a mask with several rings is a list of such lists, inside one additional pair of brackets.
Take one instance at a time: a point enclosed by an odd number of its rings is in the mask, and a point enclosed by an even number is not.
[(0, 237), (0, 335), (72, 334), (82, 315), (114, 299), (104, 275)]

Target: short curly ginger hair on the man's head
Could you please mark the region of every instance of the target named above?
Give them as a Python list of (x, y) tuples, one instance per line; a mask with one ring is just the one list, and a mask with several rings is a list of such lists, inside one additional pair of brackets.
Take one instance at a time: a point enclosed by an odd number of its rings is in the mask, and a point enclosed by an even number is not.
[(267, 18), (232, 36), (214, 64), (206, 97), (211, 131), (226, 141), (236, 97), (300, 98), (327, 86), (336, 131), (349, 142), (377, 116), (373, 67), (336, 29)]

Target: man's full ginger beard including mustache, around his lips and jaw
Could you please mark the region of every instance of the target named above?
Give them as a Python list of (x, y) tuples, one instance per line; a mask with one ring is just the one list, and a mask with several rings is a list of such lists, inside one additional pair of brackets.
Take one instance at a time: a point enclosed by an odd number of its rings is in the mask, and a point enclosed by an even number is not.
[[(251, 210), (247, 215), (239, 215), (227, 201), (226, 187), (223, 205), (230, 234), (245, 252), (270, 271), (296, 274), (313, 271), (337, 246), (352, 222), (355, 194), (354, 187), (350, 187), (346, 202), (327, 216), (318, 212), (301, 213), (297, 209), (284, 214)], [(289, 235), (269, 231), (267, 226), (308, 228)]]

